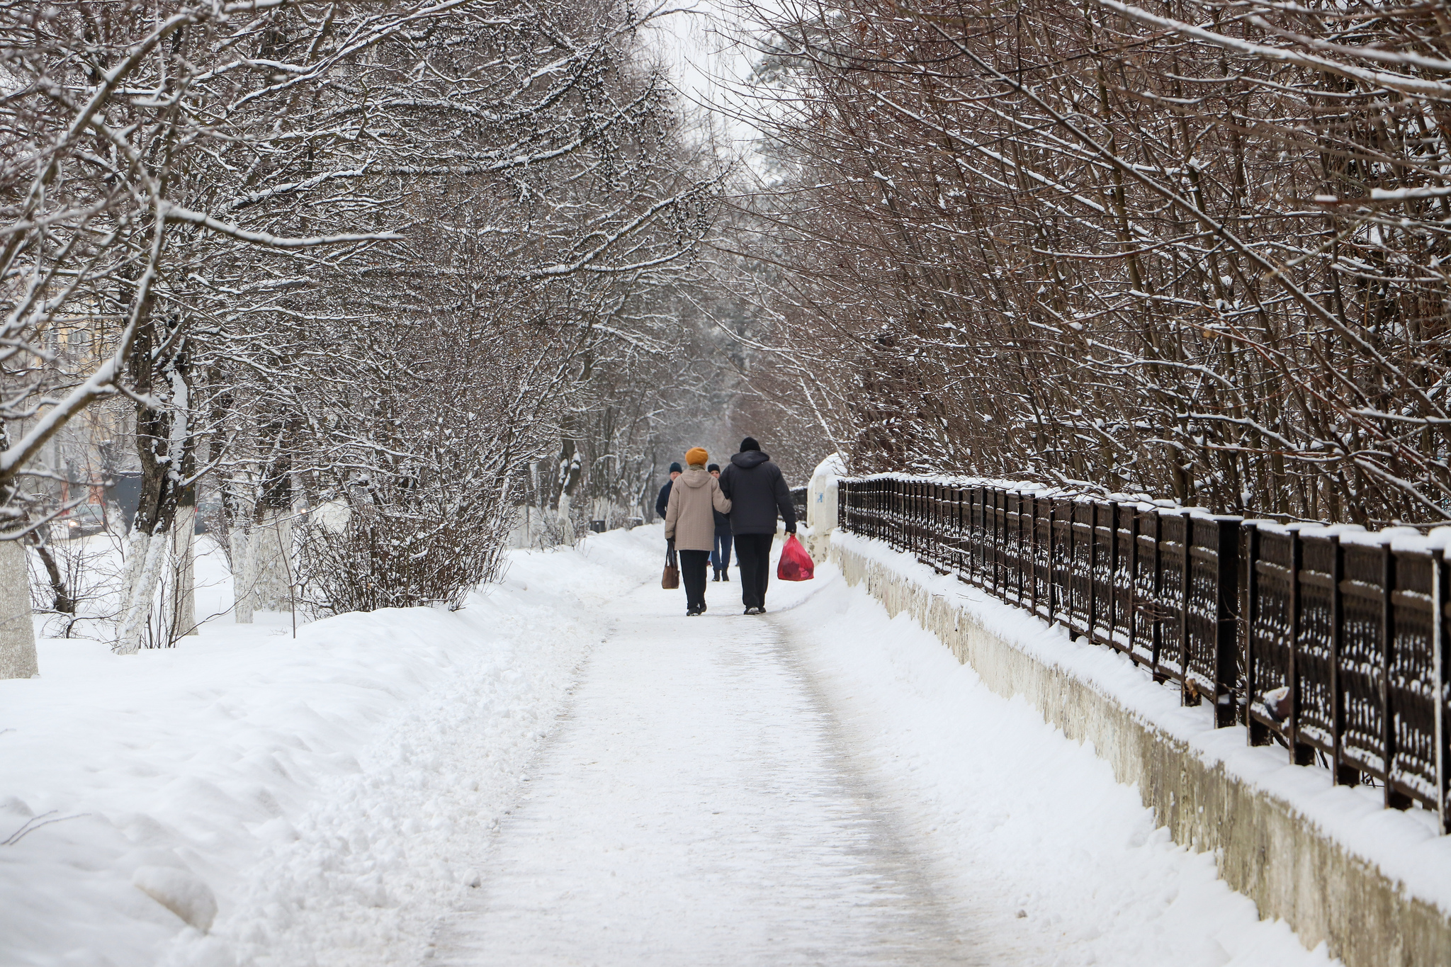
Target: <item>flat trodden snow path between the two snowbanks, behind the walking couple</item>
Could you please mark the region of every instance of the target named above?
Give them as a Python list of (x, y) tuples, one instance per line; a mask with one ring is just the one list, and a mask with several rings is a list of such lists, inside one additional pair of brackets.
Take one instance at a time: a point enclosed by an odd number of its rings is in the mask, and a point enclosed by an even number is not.
[(781, 631), (736, 593), (712, 584), (702, 619), (659, 587), (614, 606), (435, 963), (981, 963)]

